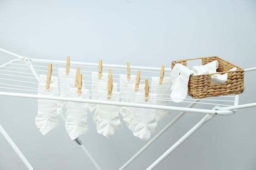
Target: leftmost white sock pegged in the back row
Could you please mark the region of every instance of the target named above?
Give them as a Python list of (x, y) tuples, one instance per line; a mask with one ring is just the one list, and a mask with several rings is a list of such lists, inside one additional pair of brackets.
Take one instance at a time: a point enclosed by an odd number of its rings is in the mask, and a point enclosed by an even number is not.
[[(70, 69), (70, 73), (66, 74), (66, 68), (58, 68), (58, 77), (60, 80), (60, 96), (69, 97), (70, 88), (75, 87), (76, 70)], [(61, 108), (67, 107), (67, 101), (59, 100), (58, 102), (61, 105)]]

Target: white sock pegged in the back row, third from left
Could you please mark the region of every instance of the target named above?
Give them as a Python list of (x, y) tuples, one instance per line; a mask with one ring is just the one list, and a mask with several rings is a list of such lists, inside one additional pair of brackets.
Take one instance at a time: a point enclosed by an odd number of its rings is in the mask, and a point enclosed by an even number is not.
[[(119, 87), (120, 87), (120, 97), (121, 102), (128, 102), (127, 99), (127, 88), (128, 84), (135, 84), (136, 82), (136, 75), (130, 75), (130, 81), (127, 79), (127, 75), (120, 74), (119, 75)], [(120, 114), (122, 116), (127, 114), (126, 106), (120, 106)]]

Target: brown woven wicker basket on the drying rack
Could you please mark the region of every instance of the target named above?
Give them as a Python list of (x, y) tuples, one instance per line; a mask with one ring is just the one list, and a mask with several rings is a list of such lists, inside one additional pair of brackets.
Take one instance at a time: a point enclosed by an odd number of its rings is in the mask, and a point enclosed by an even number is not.
[[(186, 66), (186, 61), (202, 59), (202, 65), (218, 60), (219, 67), (217, 72), (220, 74), (227, 73), (227, 82), (223, 84), (211, 84), (211, 75), (190, 75), (188, 83), (188, 94), (193, 98), (204, 98), (219, 95), (239, 94), (244, 91), (244, 70), (230, 62), (227, 62), (220, 57), (199, 57), (194, 59), (176, 60), (172, 62), (172, 68), (175, 64), (180, 63)], [(236, 71), (229, 71), (236, 67)]]

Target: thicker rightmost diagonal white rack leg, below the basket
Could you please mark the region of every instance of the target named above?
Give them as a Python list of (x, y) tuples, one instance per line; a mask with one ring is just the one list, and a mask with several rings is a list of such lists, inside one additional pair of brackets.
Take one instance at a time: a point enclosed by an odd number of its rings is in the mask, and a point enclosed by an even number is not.
[(186, 139), (188, 139), (196, 130), (203, 126), (207, 121), (212, 119), (215, 115), (205, 115), (205, 117), (191, 128), (183, 137), (181, 137), (171, 148), (169, 148), (163, 155), (161, 155), (154, 163), (152, 163), (146, 170), (153, 170), (159, 163), (161, 163), (168, 155), (171, 154), (178, 146), (180, 146)]

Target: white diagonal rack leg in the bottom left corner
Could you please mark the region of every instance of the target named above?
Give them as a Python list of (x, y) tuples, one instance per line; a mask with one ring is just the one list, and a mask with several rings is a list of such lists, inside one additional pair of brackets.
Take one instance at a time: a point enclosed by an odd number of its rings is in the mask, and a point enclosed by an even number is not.
[(27, 166), (29, 170), (34, 170), (34, 168), (30, 165), (29, 161), (25, 158), (25, 156), (22, 154), (22, 152), (19, 150), (19, 148), (16, 146), (16, 144), (13, 142), (11, 137), (7, 134), (7, 132), (4, 130), (4, 128), (0, 125), (0, 132), (4, 136), (4, 138), (8, 141), (8, 143), (11, 145), (13, 150), (17, 153), (17, 155), (20, 157), (22, 162)]

